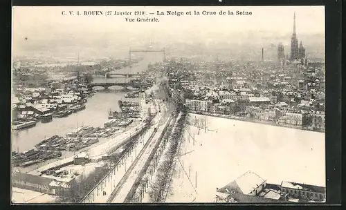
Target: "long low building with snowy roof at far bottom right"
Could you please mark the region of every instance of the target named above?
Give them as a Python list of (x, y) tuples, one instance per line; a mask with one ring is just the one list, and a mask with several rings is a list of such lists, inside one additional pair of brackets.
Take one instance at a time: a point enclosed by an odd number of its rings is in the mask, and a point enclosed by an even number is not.
[(304, 200), (325, 200), (325, 187), (282, 181), (280, 188), (281, 195), (289, 195)]

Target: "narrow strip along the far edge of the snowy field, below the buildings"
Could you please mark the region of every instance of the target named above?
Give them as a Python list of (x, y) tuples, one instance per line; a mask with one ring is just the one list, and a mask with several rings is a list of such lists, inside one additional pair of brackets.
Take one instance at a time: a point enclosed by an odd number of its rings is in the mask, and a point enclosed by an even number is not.
[(302, 126), (293, 126), (290, 124), (280, 124), (277, 122), (271, 122), (271, 121), (261, 121), (261, 120), (253, 120), (249, 119), (247, 117), (239, 117), (239, 116), (233, 116), (233, 115), (222, 115), (222, 114), (217, 114), (217, 113), (197, 113), (196, 111), (188, 111), (188, 113), (193, 113), (193, 114), (198, 114), (198, 115), (207, 115), (211, 117), (221, 117), (221, 118), (226, 118), (226, 119), (232, 119), (232, 120), (241, 120), (244, 122), (251, 122), (251, 123), (257, 123), (257, 124), (266, 124), (266, 125), (271, 125), (271, 126), (280, 126), (284, 128), (293, 128), (293, 129), (299, 129), (302, 131), (313, 131), (313, 132), (318, 132), (318, 133), (325, 133), (325, 131), (320, 131), (320, 130), (311, 130)]

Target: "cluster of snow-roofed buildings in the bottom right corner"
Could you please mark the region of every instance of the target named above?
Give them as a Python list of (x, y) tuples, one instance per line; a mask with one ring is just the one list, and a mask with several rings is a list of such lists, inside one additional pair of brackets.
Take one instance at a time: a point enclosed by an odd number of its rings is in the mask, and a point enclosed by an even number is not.
[(270, 184), (252, 171), (217, 189), (216, 202), (325, 202), (325, 187), (282, 181)]

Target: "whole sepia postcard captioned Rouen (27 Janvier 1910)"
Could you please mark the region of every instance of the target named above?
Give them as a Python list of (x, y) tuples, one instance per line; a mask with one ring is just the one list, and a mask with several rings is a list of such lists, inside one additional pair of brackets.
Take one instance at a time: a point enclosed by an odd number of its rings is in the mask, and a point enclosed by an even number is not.
[(12, 204), (325, 203), (324, 6), (12, 7)]

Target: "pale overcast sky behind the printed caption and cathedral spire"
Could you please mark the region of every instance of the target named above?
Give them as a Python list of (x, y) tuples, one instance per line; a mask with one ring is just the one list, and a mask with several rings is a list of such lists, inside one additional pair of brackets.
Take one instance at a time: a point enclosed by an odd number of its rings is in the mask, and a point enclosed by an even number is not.
[[(71, 16), (62, 11), (146, 11), (167, 10), (184, 12), (180, 17), (158, 17), (159, 23), (128, 23), (125, 16)], [(215, 11), (212, 15), (185, 15), (194, 10)], [(251, 16), (220, 16), (219, 11), (248, 11)], [(244, 37), (257, 37), (258, 40), (291, 35), (293, 13), (296, 16), (296, 30), (300, 35), (325, 34), (325, 8), (323, 6), (276, 6), (276, 7), (15, 7), (13, 9), (13, 48), (20, 51), (28, 41), (62, 40), (110, 40), (131, 46), (135, 42), (148, 40), (174, 43), (191, 41), (234, 41), (235, 43), (255, 41)], [(131, 16), (134, 17), (134, 16)], [(150, 15), (149, 17), (157, 17)], [(27, 39), (25, 39), (27, 37)], [(230, 39), (231, 37), (231, 39)], [(24, 41), (25, 40), (25, 41)], [(141, 41), (139, 41), (141, 40)], [(78, 42), (77, 41), (77, 42)], [(139, 42), (138, 42), (139, 41)], [(289, 42), (290, 40), (285, 40)], [(77, 43), (76, 42), (76, 43)], [(88, 42), (88, 41), (86, 41)], [(106, 45), (107, 45), (106, 41)], [(36, 44), (37, 45), (37, 44)]]

